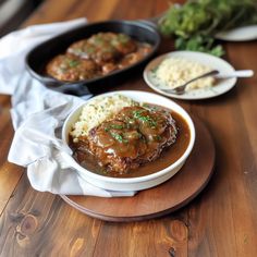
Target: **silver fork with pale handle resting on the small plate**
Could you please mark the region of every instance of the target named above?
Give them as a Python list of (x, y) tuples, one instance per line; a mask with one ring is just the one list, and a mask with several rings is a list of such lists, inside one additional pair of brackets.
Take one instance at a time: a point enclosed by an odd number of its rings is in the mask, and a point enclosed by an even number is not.
[(184, 83), (183, 85), (180, 85), (175, 88), (168, 89), (168, 88), (160, 87), (159, 89), (167, 91), (167, 93), (175, 94), (175, 95), (183, 95), (185, 93), (185, 88), (188, 84), (191, 84), (192, 82), (195, 82), (199, 78), (207, 77), (207, 76), (213, 76), (216, 78), (230, 78), (230, 77), (250, 77), (253, 75), (254, 75), (254, 71), (252, 71), (252, 70), (234, 71), (234, 72), (230, 72), (230, 73), (220, 73), (217, 70), (212, 70), (212, 71), (204, 73), (197, 77), (194, 77), (194, 78), (189, 79), (188, 82)]

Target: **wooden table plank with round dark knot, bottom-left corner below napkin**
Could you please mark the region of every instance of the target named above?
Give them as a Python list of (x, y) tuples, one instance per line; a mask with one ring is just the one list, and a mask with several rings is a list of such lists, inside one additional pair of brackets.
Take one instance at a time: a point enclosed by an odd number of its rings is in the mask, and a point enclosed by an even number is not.
[(93, 256), (100, 228), (24, 175), (0, 218), (0, 256)]

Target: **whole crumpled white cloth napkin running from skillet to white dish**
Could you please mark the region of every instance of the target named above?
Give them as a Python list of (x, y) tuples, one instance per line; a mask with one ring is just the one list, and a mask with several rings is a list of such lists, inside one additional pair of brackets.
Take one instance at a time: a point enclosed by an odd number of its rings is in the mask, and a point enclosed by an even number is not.
[(12, 95), (15, 135), (8, 160), (27, 167), (32, 186), (41, 192), (101, 197), (136, 192), (106, 191), (82, 180), (65, 163), (71, 149), (60, 139), (68, 114), (89, 96), (78, 98), (46, 88), (25, 71), (24, 58), (37, 44), (86, 23), (85, 19), (30, 26), (0, 39), (0, 94)]

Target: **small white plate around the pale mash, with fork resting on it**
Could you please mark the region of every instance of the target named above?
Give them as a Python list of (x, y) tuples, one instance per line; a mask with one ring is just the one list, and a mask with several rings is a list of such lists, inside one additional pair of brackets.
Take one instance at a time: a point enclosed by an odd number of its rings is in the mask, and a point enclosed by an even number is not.
[(234, 71), (234, 68), (229, 64), (227, 61), (213, 57), (208, 53), (203, 52), (194, 52), (194, 51), (174, 51), (169, 52), (163, 56), (157, 57), (151, 62), (148, 63), (144, 71), (144, 79), (145, 82), (155, 90), (161, 95), (178, 98), (178, 99), (185, 99), (185, 100), (198, 100), (198, 99), (206, 99), (220, 96), (227, 91), (229, 91), (236, 83), (236, 78), (225, 78), (219, 79), (218, 83), (211, 88), (200, 88), (188, 90), (183, 95), (175, 95), (171, 93), (167, 93), (161, 90), (161, 87), (164, 87), (163, 83), (155, 75), (155, 69), (167, 58), (180, 57), (183, 59), (187, 59), (189, 61), (196, 61), (204, 65), (211, 68), (211, 70), (218, 70), (222, 73), (230, 73)]

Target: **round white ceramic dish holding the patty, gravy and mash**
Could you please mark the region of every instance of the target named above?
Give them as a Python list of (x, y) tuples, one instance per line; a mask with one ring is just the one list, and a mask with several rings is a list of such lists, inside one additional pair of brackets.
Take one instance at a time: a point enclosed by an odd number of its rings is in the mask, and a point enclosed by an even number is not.
[[(109, 178), (109, 176), (103, 176), (99, 175), (96, 173), (93, 173), (82, 166), (79, 166), (72, 156), (69, 156), (66, 161), (68, 163), (74, 168), (81, 178), (86, 180), (87, 182), (99, 186), (105, 189), (110, 189), (110, 191), (140, 191), (140, 189), (146, 189), (152, 186), (156, 186), (167, 180), (169, 180), (171, 176), (173, 176), (184, 164), (186, 161), (187, 157), (189, 156), (194, 143), (195, 143), (195, 127), (194, 123), (188, 115), (188, 113), (179, 105), (176, 105), (174, 101), (164, 98), (162, 96), (158, 96), (156, 94), (150, 94), (150, 93), (145, 93), (145, 91), (133, 91), (133, 90), (124, 90), (124, 91), (114, 91), (114, 93), (107, 93), (101, 96), (111, 96), (114, 94), (121, 94), (126, 97), (130, 97), (136, 101), (140, 102), (150, 102), (155, 105), (160, 105), (163, 107), (167, 107), (171, 110), (174, 110), (175, 112), (180, 113), (185, 121), (187, 122), (191, 131), (191, 140), (188, 144), (187, 149), (183, 154), (183, 156), (172, 163), (170, 167), (160, 170), (154, 174), (145, 175), (145, 176), (139, 176), (139, 178)], [(90, 100), (89, 100), (90, 101)], [(84, 103), (85, 105), (85, 103)], [(77, 121), (83, 106), (78, 107), (76, 110), (74, 110), (65, 120), (63, 128), (62, 128), (62, 139), (65, 145), (69, 146), (69, 132), (71, 131), (72, 125), (74, 122)]]

